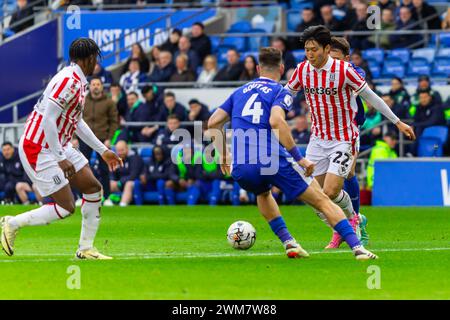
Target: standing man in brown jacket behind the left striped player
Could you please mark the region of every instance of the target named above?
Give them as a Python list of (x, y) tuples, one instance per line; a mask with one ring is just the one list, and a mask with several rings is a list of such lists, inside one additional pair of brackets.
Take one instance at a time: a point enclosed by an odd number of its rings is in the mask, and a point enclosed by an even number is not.
[[(114, 138), (116, 130), (119, 128), (118, 112), (114, 101), (106, 96), (103, 91), (103, 83), (100, 78), (94, 77), (89, 83), (89, 94), (86, 96), (83, 119), (92, 129), (94, 134), (103, 143), (110, 148), (111, 140)], [(83, 140), (79, 141), (81, 153), (90, 159), (92, 148)], [(97, 154), (99, 159), (100, 182), (103, 186), (103, 194), (108, 199), (109, 191), (109, 169), (101, 155)], [(106, 206), (112, 205), (111, 201), (105, 201)]]

